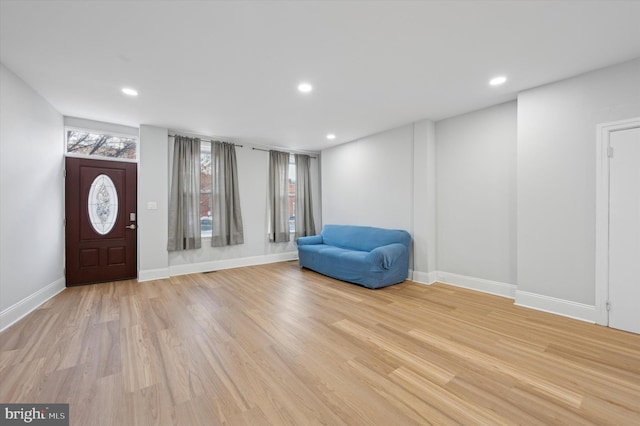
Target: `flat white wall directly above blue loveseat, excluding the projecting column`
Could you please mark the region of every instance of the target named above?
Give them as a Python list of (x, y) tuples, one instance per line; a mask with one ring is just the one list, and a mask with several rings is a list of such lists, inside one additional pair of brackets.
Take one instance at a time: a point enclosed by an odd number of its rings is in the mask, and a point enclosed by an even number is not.
[(324, 224), (412, 231), (413, 125), (322, 151)]

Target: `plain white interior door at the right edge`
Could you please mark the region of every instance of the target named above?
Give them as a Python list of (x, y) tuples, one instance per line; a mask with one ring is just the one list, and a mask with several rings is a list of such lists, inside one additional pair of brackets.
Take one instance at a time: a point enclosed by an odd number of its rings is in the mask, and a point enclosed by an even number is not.
[(609, 326), (640, 334), (640, 128), (609, 145)]

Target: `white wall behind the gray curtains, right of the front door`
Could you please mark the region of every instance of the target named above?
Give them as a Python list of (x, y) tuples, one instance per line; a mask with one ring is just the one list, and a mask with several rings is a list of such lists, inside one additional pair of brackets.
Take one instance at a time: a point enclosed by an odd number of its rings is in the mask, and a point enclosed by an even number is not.
[[(211, 247), (210, 239), (203, 238), (201, 249), (167, 252), (168, 158), (169, 149), (172, 149), (170, 141), (173, 140), (168, 138), (168, 134), (166, 128), (140, 128), (140, 280), (297, 258), (293, 239), (288, 243), (269, 242), (266, 231), (269, 153), (253, 150), (246, 143), (244, 147), (236, 148), (244, 244)], [(318, 231), (322, 222), (319, 161), (319, 158), (311, 160), (312, 196)], [(157, 210), (148, 210), (149, 202), (157, 203)]]

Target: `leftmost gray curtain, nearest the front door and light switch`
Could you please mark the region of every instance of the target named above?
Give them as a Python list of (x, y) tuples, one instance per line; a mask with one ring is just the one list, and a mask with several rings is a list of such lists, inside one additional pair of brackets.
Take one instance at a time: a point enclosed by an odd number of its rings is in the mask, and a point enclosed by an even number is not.
[(176, 136), (167, 249), (200, 248), (200, 139)]

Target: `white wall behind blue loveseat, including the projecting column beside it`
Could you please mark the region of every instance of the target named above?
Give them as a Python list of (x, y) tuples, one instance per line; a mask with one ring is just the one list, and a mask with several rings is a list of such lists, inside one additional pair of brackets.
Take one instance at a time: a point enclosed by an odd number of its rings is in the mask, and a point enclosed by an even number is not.
[(407, 230), (424, 283), (436, 278), (435, 143), (423, 120), (322, 151), (323, 222)]

